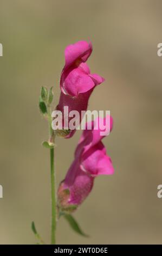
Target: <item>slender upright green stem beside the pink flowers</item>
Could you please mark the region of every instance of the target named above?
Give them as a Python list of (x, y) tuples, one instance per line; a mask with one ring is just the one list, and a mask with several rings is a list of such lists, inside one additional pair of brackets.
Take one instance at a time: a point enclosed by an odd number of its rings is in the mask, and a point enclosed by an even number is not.
[[(48, 108), (49, 133), (54, 136), (51, 127), (51, 110)], [(53, 139), (54, 142), (54, 139)], [(56, 192), (55, 192), (55, 165), (54, 165), (54, 148), (50, 149), (50, 178), (51, 178), (51, 245), (56, 243)]]

